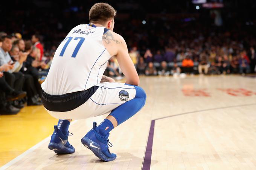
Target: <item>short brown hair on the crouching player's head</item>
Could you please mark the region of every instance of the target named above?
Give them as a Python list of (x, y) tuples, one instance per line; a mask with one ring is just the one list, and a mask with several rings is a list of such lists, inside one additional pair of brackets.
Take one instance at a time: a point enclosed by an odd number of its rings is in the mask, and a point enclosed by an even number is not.
[(116, 16), (116, 10), (108, 3), (96, 3), (89, 12), (90, 23), (104, 24)]

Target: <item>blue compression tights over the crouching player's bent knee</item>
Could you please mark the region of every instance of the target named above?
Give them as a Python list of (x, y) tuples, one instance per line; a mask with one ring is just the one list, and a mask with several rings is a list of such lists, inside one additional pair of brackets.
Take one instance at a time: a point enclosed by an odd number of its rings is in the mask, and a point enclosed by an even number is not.
[[(130, 84), (127, 84), (127, 85), (133, 86)], [(128, 120), (145, 105), (145, 102), (146, 102), (145, 91), (139, 86), (133, 86), (133, 87), (135, 87), (135, 90), (136, 90), (135, 98), (131, 99), (128, 102), (125, 102), (124, 104), (112, 110), (110, 113), (110, 115), (116, 119), (117, 125), (120, 125), (121, 123)]]

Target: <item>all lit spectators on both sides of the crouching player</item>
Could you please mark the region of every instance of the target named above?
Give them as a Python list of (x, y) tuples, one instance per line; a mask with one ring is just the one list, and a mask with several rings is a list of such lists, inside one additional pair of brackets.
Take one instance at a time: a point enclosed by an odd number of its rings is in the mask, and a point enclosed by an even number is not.
[[(184, 35), (185, 34), (185, 35)], [(229, 32), (148, 35), (126, 39), (129, 55), (139, 75), (248, 74), (256, 72), (256, 41), (232, 38)], [(127, 36), (127, 34), (124, 34)], [(41, 105), (41, 82), (47, 76), (56, 46), (44, 48), (38, 34), (23, 40), (20, 33), (0, 32), (0, 113), (17, 114), (27, 105)], [(147, 48), (148, 47), (148, 48)], [(121, 79), (115, 57), (108, 61), (104, 75)]]

